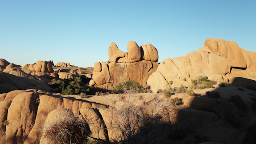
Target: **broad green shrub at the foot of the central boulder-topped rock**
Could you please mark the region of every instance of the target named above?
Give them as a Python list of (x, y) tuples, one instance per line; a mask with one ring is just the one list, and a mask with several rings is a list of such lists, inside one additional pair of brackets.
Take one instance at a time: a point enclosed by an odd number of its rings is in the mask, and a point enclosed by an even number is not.
[(127, 93), (128, 91), (134, 93), (141, 93), (142, 90), (143, 87), (140, 85), (140, 83), (135, 82), (135, 80), (132, 79), (130, 81), (121, 82), (112, 90), (112, 92), (114, 94)]

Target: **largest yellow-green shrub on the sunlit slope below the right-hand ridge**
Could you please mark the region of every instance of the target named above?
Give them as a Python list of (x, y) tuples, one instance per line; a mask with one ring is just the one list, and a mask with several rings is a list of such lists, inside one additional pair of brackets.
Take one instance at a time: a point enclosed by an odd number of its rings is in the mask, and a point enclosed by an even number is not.
[(214, 88), (212, 83), (207, 79), (206, 76), (199, 76), (197, 79), (191, 80), (191, 85), (189, 86), (190, 89), (204, 89), (204, 88)]

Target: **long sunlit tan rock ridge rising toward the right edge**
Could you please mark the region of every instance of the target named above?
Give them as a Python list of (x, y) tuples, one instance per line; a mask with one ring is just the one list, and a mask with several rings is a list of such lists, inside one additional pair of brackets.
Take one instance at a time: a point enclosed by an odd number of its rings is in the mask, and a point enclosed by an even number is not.
[[(188, 86), (191, 79), (200, 75), (230, 83), (235, 77), (256, 80), (256, 52), (244, 50), (233, 41), (208, 38), (197, 52), (164, 59), (148, 78), (147, 85), (151, 86), (153, 92), (181, 84)], [(183, 81), (184, 78), (187, 81)], [(170, 85), (170, 81), (173, 81), (173, 85)]]

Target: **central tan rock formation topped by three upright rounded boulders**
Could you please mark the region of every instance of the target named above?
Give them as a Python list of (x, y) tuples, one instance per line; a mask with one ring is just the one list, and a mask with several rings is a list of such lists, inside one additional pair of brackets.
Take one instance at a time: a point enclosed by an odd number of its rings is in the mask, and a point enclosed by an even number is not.
[(158, 51), (147, 43), (139, 47), (129, 41), (128, 52), (118, 49), (115, 43), (108, 47), (108, 62), (95, 62), (90, 86), (112, 90), (116, 84), (134, 79), (143, 87), (149, 75), (158, 68)]

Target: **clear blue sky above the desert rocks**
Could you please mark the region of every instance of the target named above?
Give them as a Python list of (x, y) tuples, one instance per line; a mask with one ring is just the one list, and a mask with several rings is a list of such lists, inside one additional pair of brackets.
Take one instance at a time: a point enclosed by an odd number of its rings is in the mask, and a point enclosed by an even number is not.
[(212, 37), (256, 51), (256, 0), (0, 0), (0, 58), (78, 67), (108, 61), (114, 42), (151, 43), (158, 62)]

